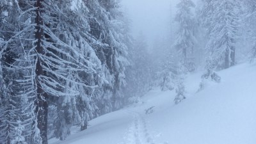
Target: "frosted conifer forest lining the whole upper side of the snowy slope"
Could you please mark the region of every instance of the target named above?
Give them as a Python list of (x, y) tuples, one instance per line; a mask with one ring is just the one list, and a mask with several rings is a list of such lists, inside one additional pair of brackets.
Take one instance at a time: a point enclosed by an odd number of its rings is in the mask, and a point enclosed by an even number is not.
[(255, 16), (253, 0), (180, 0), (170, 36), (149, 51), (118, 0), (2, 0), (0, 143), (65, 140), (156, 86), (179, 104), (202, 65), (201, 89), (238, 59), (255, 60)]

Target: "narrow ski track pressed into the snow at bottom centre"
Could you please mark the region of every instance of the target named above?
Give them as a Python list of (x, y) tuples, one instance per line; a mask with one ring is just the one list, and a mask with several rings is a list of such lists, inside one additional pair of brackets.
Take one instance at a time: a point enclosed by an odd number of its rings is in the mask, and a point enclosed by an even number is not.
[(132, 112), (133, 122), (127, 132), (126, 143), (122, 144), (156, 144), (150, 136), (145, 118), (136, 112)]

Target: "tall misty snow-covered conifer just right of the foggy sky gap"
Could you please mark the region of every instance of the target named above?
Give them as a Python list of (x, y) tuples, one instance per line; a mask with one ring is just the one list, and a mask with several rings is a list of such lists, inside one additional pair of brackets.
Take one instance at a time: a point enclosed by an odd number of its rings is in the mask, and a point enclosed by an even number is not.
[(177, 4), (177, 14), (175, 20), (179, 24), (177, 31), (177, 39), (175, 48), (180, 54), (180, 62), (187, 68), (188, 72), (195, 70), (194, 49), (195, 49), (195, 18), (191, 8), (195, 8), (195, 4), (191, 0), (180, 0)]

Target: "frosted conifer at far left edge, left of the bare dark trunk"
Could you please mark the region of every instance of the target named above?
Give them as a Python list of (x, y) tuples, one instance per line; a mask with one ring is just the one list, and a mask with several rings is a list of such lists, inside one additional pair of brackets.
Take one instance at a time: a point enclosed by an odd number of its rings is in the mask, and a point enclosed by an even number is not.
[[(19, 59), (26, 51), (26, 44), (22, 44), (20, 37), (26, 35), (24, 29), (28, 29), (26, 26), (28, 15), (22, 13), (26, 6), (19, 5), (19, 1), (1, 1), (0, 5), (2, 14), (0, 67), (1, 86), (3, 86), (0, 143), (11, 143), (20, 136), (22, 141), (19, 143), (25, 143), (31, 140), (31, 133), (34, 131), (31, 126), (35, 122), (33, 118), (33, 98), (35, 98), (33, 94), (35, 93), (30, 93), (33, 84), (26, 83), (26, 76), (29, 76), (31, 71), (23, 68), (28, 66), (24, 65), (28, 60), (22, 63)], [(17, 127), (24, 127), (24, 129), (17, 132), (15, 130)]]

